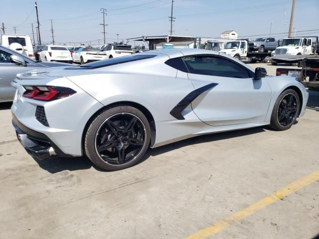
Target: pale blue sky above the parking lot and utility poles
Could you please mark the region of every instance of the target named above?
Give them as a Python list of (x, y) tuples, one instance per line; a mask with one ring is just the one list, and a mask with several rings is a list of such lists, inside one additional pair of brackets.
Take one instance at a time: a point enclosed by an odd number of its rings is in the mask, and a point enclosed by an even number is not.
[[(171, 0), (37, 0), (42, 43), (50, 43), (51, 23), (60, 43), (103, 42), (103, 14), (107, 9), (107, 42), (169, 32)], [(239, 37), (288, 32), (292, 0), (174, 0), (173, 34), (219, 37), (235, 30)], [(0, 24), (6, 33), (31, 35), (36, 25), (33, 0), (0, 0)], [(272, 24), (271, 24), (272, 23)], [(319, 35), (319, 0), (296, 0), (294, 30), (298, 35)], [(304, 32), (299, 32), (304, 31)], [(32, 38), (32, 37), (31, 37)], [(254, 38), (254, 37), (249, 37)]]

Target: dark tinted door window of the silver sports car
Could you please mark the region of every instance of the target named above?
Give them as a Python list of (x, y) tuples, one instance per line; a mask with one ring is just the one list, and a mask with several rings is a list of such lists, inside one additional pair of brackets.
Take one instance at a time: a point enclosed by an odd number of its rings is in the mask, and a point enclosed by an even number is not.
[(235, 62), (215, 56), (187, 56), (184, 62), (192, 74), (231, 77), (251, 78), (244, 67)]

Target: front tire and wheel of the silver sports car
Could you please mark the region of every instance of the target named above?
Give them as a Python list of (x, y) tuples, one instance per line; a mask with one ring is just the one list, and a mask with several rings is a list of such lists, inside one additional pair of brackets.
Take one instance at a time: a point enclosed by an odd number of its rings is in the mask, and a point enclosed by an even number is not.
[(299, 110), (300, 99), (297, 92), (292, 89), (285, 90), (275, 103), (271, 114), (270, 127), (276, 130), (289, 129), (295, 123)]

